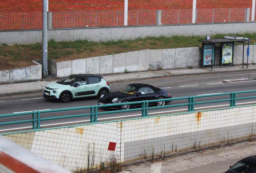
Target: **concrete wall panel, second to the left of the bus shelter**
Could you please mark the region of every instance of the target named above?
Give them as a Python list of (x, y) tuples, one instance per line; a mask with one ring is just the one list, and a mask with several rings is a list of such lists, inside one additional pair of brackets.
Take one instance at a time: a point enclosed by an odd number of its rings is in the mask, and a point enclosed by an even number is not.
[(176, 48), (175, 50), (175, 68), (187, 67), (188, 48)]

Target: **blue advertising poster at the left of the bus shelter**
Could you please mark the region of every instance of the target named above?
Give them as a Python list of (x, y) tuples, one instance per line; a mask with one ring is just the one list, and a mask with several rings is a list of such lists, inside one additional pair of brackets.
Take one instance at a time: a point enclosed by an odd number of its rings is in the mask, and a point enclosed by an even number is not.
[(214, 64), (214, 44), (203, 44), (203, 65), (211, 65), (211, 60)]

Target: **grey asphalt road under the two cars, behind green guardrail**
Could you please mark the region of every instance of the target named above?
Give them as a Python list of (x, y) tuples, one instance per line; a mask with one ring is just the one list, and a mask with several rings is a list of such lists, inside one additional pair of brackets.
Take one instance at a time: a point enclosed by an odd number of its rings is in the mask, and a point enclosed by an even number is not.
[[(111, 91), (115, 92), (120, 90), (122, 87), (126, 86), (130, 83), (145, 83), (145, 84), (152, 84), (155, 87), (159, 87), (165, 89), (166, 91), (170, 92), (173, 98), (177, 97), (187, 97), (192, 95), (207, 95), (213, 93), (228, 93), (231, 91), (248, 91), (255, 89), (255, 80), (243, 81), (243, 82), (223, 82), (223, 80), (229, 79), (242, 79), (242, 78), (256, 78), (255, 72), (233, 72), (228, 74), (208, 74), (208, 75), (194, 75), (194, 76), (179, 76), (179, 77), (166, 77), (166, 78), (157, 78), (157, 79), (150, 79), (150, 80), (137, 80), (134, 82), (121, 82), (121, 83), (114, 83), (110, 84)], [(251, 94), (243, 94), (239, 97), (250, 96)], [(212, 99), (228, 99), (229, 96), (219, 96), (213, 97)], [(206, 98), (197, 99), (196, 101), (205, 101)], [(255, 100), (255, 99), (254, 99)], [(254, 101), (253, 100), (253, 101)], [(252, 99), (250, 100), (252, 101)], [(237, 103), (242, 102), (249, 102), (249, 101), (237, 101)], [(177, 100), (172, 101), (168, 105), (172, 104), (180, 104), (180, 103), (188, 103), (188, 100)], [(199, 107), (213, 107), (217, 105), (229, 105), (228, 102), (225, 103), (211, 103), (211, 104), (204, 104), (204, 105), (196, 105), (195, 108)], [(81, 106), (89, 106), (89, 105), (97, 105), (97, 97), (90, 97), (90, 98), (81, 98), (81, 99), (74, 99), (70, 103), (61, 103), (59, 101), (49, 101), (42, 97), (42, 93), (36, 94), (29, 94), (29, 95), (19, 95), (13, 97), (1, 97), (0, 98), (0, 110), (1, 114), (9, 114), (9, 113), (17, 113), (17, 112), (24, 112), (24, 111), (33, 111), (33, 110), (45, 110), (45, 109), (60, 109), (60, 108), (67, 108), (67, 107), (81, 107)], [(170, 111), (174, 110), (186, 110), (187, 106), (183, 107), (172, 107), (172, 108), (163, 108), (163, 109), (151, 109), (149, 113), (150, 115), (156, 115), (154, 113), (164, 112), (165, 114), (171, 113)], [(196, 109), (195, 109), (196, 110)], [(106, 109), (100, 109), (101, 111), (107, 111)], [(89, 113), (85, 110), (77, 110), (77, 111), (66, 111), (65, 115), (74, 115), (80, 113)], [(122, 116), (130, 116), (130, 115), (137, 115), (140, 114), (140, 111), (132, 111), (122, 113)], [(47, 113), (41, 114), (41, 117), (53, 117), (53, 116), (61, 116), (63, 112), (56, 112), (56, 113)], [(31, 116), (31, 115), (27, 115)], [(116, 114), (106, 114), (98, 116), (98, 119), (108, 119), (110, 117), (116, 117), (119, 115)], [(26, 119), (26, 116), (19, 116), (19, 117), (8, 117), (8, 118), (1, 118), (0, 122), (6, 121), (17, 121)], [(56, 123), (70, 123), (70, 122), (77, 122), (81, 121), (81, 123), (88, 123), (89, 117), (78, 117), (72, 119), (58, 119), (52, 121), (41, 121), (41, 125), (46, 124), (56, 124)], [(62, 124), (63, 125), (63, 124)], [(19, 128), (19, 127), (31, 127), (31, 123), (27, 124), (14, 124), (14, 125), (6, 125), (1, 126), (0, 129), (12, 129), (12, 128)]]

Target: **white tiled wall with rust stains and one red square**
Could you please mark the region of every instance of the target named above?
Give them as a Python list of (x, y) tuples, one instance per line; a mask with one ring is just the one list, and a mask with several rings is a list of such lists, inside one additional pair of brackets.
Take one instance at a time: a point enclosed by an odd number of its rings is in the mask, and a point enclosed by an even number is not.
[[(95, 149), (95, 164), (112, 152), (121, 162), (190, 149), (254, 135), (256, 106), (180, 115), (149, 117), (4, 137), (67, 170), (87, 167), (88, 149)], [(90, 145), (90, 147), (88, 147)], [(91, 155), (92, 157), (92, 155)]]

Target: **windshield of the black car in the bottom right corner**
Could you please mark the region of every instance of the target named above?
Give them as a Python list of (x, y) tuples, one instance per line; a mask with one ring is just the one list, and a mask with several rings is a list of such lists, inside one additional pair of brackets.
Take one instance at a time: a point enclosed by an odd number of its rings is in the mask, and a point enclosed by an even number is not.
[(233, 167), (231, 167), (228, 172), (229, 173), (255, 173), (255, 171), (256, 171), (255, 165), (239, 162), (235, 164)]

